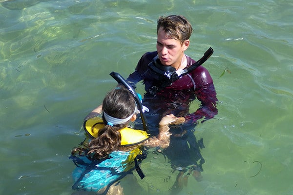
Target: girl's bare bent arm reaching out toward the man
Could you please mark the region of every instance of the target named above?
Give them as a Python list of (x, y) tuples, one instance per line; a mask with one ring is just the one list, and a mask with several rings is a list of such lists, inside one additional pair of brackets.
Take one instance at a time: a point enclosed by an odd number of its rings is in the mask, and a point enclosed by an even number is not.
[(159, 135), (157, 137), (150, 137), (145, 141), (145, 145), (148, 147), (167, 148), (170, 143), (169, 126), (172, 124), (181, 124), (185, 121), (184, 117), (175, 117), (173, 114), (163, 117), (159, 123)]

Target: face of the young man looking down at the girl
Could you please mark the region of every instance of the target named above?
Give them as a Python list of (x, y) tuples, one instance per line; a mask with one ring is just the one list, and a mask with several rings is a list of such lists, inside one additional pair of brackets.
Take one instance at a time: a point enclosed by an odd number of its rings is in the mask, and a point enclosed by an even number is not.
[(184, 51), (187, 50), (188, 46), (189, 39), (181, 44), (179, 40), (168, 38), (163, 27), (159, 29), (157, 35), (157, 52), (163, 65), (172, 66), (177, 70), (181, 64)]

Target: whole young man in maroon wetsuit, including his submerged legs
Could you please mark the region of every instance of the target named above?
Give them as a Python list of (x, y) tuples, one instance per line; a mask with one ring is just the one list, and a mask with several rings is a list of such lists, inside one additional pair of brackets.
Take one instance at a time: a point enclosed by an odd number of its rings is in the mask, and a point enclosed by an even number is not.
[[(174, 184), (177, 190), (182, 187), (179, 181), (187, 181), (181, 178), (185, 173), (200, 178), (204, 163), (200, 148), (204, 146), (196, 141), (194, 127), (199, 119), (212, 118), (218, 112), (213, 81), (205, 67), (199, 66), (183, 77), (173, 79), (174, 71), (179, 73), (195, 63), (184, 53), (189, 47), (191, 33), (191, 24), (184, 16), (160, 17), (157, 23), (157, 51), (145, 53), (127, 78), (129, 83), (136, 84), (143, 80), (145, 84), (143, 104), (150, 110), (146, 113), (150, 126), (158, 124), (160, 118), (167, 114), (185, 117), (187, 121), (185, 125), (170, 130), (170, 146), (164, 151), (172, 165), (180, 171)], [(201, 105), (195, 112), (189, 113), (189, 105), (195, 98)], [(157, 134), (150, 126), (150, 134)]]

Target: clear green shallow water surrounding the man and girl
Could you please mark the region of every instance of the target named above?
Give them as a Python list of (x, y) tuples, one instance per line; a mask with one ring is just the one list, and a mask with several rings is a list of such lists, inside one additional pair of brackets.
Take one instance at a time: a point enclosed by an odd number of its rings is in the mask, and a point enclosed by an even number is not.
[[(108, 74), (127, 77), (155, 50), (157, 18), (182, 14), (194, 28), (187, 54), (215, 51), (204, 66), (220, 102), (195, 131), (206, 146), (203, 180), (190, 177), (181, 194), (292, 195), (292, 8), (290, 0), (0, 0), (0, 194), (70, 195), (67, 156), (84, 138), (84, 116), (116, 85)], [(142, 168), (143, 181), (123, 179), (126, 194), (169, 193), (176, 172), (163, 156)]]

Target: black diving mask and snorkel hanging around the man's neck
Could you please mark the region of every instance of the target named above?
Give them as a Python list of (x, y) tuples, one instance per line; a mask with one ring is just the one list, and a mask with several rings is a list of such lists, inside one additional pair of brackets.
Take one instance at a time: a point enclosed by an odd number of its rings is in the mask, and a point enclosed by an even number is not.
[(159, 80), (163, 81), (163, 87), (166, 87), (175, 80), (182, 78), (184, 75), (187, 75), (189, 72), (202, 65), (205, 61), (207, 61), (207, 59), (209, 59), (212, 54), (213, 49), (210, 47), (201, 59), (190, 65), (187, 69), (183, 69), (180, 71), (176, 71), (176, 69), (172, 66), (164, 66), (158, 56), (155, 57), (153, 61), (148, 64), (148, 67), (158, 76)]

